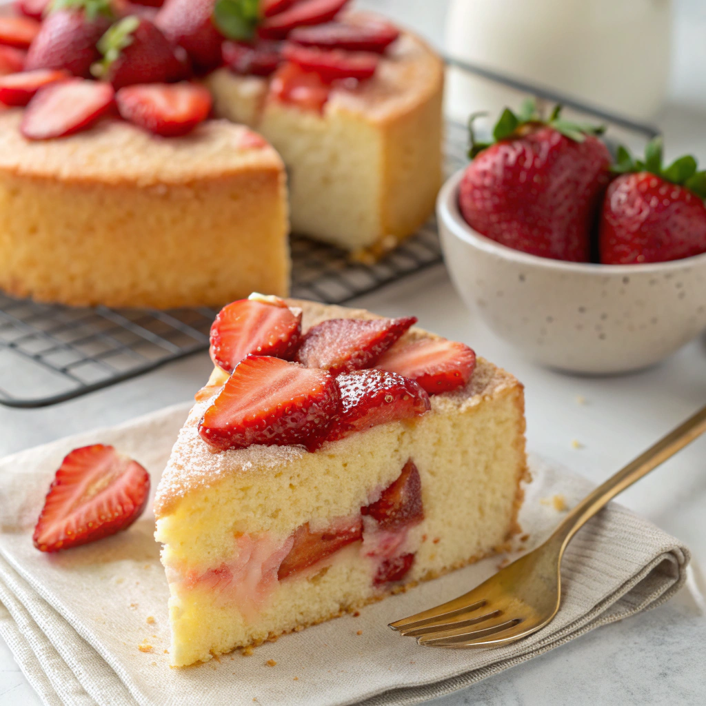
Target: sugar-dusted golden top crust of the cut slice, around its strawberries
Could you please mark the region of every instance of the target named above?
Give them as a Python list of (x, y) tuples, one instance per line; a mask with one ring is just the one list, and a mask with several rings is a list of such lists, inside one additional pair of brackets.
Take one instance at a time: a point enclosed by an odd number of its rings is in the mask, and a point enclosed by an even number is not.
[[(330, 318), (383, 318), (365, 309), (347, 309), (342, 306), (318, 304), (312, 301), (289, 299), (290, 306), (299, 306), (303, 311), (302, 330)], [(409, 330), (406, 337), (437, 337), (421, 328)], [(404, 339), (403, 339), (404, 340)], [(522, 385), (517, 379), (479, 358), (474, 374), (465, 388), (452, 393), (431, 397), (431, 414), (436, 412), (459, 412), (480, 405), (492, 395), (517, 390)], [(234, 451), (214, 451), (198, 434), (198, 421), (210, 404), (210, 398), (198, 402), (181, 430), (179, 440), (174, 445), (169, 464), (162, 474), (157, 487), (154, 510), (157, 520), (174, 511), (179, 500), (191, 491), (210, 486), (229, 474), (262, 472), (263, 469), (276, 471), (283, 463), (306, 455), (308, 452), (299, 446), (251, 446)], [(521, 410), (524, 412), (524, 410)], [(522, 429), (524, 433), (524, 429)], [(344, 440), (345, 441), (345, 440)], [(324, 447), (325, 450), (325, 447)], [(522, 494), (518, 486), (516, 507), (519, 509)], [(515, 513), (516, 515), (516, 513)]]

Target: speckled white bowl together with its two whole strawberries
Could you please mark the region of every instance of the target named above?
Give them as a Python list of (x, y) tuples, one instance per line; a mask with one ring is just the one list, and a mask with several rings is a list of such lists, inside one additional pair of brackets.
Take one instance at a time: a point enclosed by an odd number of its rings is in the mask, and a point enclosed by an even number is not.
[(531, 359), (613, 374), (652, 366), (706, 330), (706, 172), (693, 157), (616, 159), (590, 125), (505, 109), (492, 143), (471, 121), (468, 167), (439, 193), (462, 299)]

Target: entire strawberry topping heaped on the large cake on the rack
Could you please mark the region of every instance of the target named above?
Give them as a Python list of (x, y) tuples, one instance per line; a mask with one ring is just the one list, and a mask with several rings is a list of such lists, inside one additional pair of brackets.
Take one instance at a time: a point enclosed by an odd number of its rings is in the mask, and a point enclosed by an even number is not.
[[(56, 104), (64, 115), (23, 135), (59, 138), (117, 114), (176, 137), (208, 119), (211, 102), (196, 84), (170, 86), (227, 66), (240, 75), (271, 76), (277, 100), (321, 111), (332, 88), (371, 79), (400, 34), (380, 20), (347, 22), (345, 6), (347, 0), (23, 0), (15, 16), (0, 17), (0, 77), (11, 77), (0, 85), (0, 103), (45, 105), (44, 86), (72, 76), (115, 90), (135, 87), (117, 96), (116, 109), (111, 103), (96, 116), (87, 107), (79, 117), (67, 102)], [(35, 110), (32, 122), (45, 112)]]

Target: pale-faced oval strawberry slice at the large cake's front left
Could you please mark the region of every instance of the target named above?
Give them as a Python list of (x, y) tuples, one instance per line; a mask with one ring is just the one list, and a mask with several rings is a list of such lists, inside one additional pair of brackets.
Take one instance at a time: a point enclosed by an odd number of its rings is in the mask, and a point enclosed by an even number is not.
[(113, 107), (115, 92), (109, 83), (83, 78), (40, 88), (25, 110), (20, 132), (28, 140), (49, 140), (79, 132)]

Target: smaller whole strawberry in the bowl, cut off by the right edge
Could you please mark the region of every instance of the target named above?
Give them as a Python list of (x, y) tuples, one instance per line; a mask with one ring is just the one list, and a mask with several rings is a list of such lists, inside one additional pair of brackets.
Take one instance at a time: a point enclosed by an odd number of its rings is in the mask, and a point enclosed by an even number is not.
[(606, 265), (681, 260), (706, 253), (706, 172), (687, 155), (662, 169), (662, 139), (647, 145), (645, 161), (618, 150), (599, 229)]

